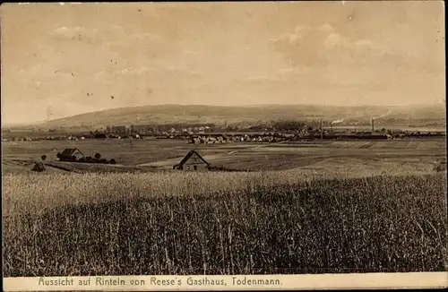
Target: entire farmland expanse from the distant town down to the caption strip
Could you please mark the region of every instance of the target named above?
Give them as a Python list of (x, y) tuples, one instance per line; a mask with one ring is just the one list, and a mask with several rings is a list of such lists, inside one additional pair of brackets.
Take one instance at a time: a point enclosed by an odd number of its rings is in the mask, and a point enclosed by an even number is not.
[[(118, 164), (52, 161), (69, 147)], [(4, 276), (448, 267), (443, 140), (195, 145), (212, 165), (253, 172), (172, 170), (192, 147), (4, 143)], [(30, 171), (42, 154), (65, 170)]]

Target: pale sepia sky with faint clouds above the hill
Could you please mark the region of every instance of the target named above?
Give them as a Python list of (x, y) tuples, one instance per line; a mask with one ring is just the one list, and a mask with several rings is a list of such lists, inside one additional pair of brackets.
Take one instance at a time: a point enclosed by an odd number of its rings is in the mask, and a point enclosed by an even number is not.
[(2, 4), (2, 123), (157, 104), (444, 102), (444, 3)]

